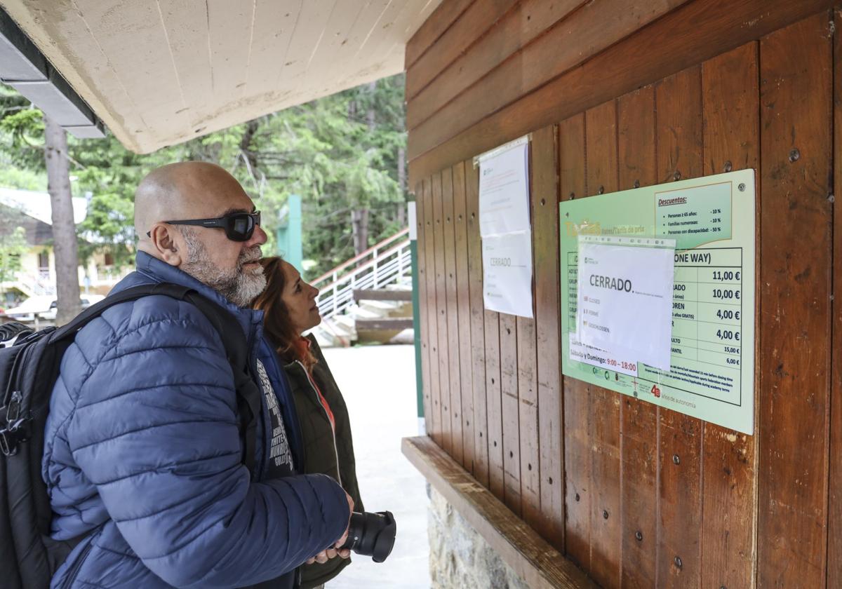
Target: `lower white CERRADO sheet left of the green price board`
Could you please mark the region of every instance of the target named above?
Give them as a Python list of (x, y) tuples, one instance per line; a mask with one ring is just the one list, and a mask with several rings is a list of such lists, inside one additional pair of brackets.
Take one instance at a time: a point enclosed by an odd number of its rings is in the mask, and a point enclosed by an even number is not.
[(485, 308), (532, 317), (532, 236), (519, 231), (482, 238)]

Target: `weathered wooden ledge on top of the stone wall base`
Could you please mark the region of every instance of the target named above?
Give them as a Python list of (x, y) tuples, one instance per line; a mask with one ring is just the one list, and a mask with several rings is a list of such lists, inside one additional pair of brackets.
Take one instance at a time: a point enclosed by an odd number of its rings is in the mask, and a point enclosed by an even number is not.
[(598, 589), (576, 565), (480, 486), (426, 437), (403, 438), (401, 450), (456, 508), (494, 553), (533, 589)]

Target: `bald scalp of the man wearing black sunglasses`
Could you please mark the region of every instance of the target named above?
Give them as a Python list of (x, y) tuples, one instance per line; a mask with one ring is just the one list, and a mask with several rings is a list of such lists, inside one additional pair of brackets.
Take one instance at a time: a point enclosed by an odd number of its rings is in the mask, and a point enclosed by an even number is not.
[(155, 223), (220, 215), (242, 197), (248, 199), (240, 183), (216, 164), (179, 162), (158, 167), (137, 186), (135, 231), (142, 243)]

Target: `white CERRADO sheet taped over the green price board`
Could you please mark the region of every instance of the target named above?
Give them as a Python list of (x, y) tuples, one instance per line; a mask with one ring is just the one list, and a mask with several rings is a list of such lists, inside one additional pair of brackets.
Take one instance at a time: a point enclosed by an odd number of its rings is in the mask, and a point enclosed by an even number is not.
[(669, 371), (674, 254), (674, 240), (581, 236), (578, 341)]

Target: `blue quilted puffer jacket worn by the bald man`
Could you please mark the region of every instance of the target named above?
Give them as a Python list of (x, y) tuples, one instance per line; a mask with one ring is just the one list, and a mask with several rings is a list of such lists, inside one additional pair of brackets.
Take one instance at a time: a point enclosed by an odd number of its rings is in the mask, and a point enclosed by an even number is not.
[[(262, 314), (142, 252), (115, 291), (153, 282), (195, 288), (237, 316), (253, 369), (259, 359), (278, 397), (294, 463), (302, 464), (294, 407), (261, 337)], [(88, 537), (51, 586), (242, 587), (278, 577), (273, 587), (293, 586), (296, 566), (344, 532), (348, 502), (328, 476), (288, 469), (262, 480), (267, 416), (264, 399), (250, 480), (232, 370), (200, 310), (147, 296), (89, 323), (61, 361), (43, 463), (53, 537)]]

